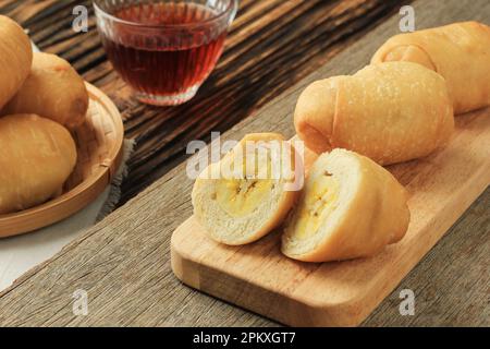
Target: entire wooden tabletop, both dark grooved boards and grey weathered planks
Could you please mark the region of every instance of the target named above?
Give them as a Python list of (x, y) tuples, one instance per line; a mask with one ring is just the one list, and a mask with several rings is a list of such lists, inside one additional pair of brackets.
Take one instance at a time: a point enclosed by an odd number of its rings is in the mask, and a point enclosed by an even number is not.
[[(242, 0), (216, 71), (196, 98), (176, 108), (148, 107), (131, 97), (106, 60), (94, 19), (87, 34), (71, 31), (78, 3), (89, 1), (0, 0), (0, 13), (22, 23), (40, 49), (70, 60), (115, 101), (126, 136), (137, 141), (123, 184), (125, 204), (0, 293), (0, 325), (277, 325), (188, 289), (172, 275), (170, 236), (192, 210), (185, 164), (175, 166), (185, 159), (187, 142), (208, 140), (211, 130), (230, 130), (226, 137), (240, 139), (273, 127), (291, 135), (290, 116), (278, 115), (268, 101), (297, 94), (329, 61), (322, 73), (346, 73), (331, 67), (350, 57), (355, 57), (351, 70), (360, 59), (367, 62), (369, 55), (364, 57), (358, 44), (382, 43), (384, 33), (394, 34), (397, 19), (387, 19), (407, 2)], [(418, 0), (415, 5), (424, 8), (427, 23), (476, 19), (489, 24), (487, 0)], [(376, 28), (380, 23), (383, 27)], [(489, 205), (487, 190), (365, 324), (490, 325)], [(397, 313), (403, 288), (416, 291), (417, 316)], [(88, 316), (73, 315), (77, 289), (88, 292)]]

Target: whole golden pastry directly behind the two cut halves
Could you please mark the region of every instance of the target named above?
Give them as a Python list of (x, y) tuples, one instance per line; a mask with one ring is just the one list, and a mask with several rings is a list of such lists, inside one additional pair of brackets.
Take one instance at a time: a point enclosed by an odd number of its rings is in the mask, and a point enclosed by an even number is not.
[(335, 99), (308, 97), (305, 104), (304, 95), (313, 96), (310, 86), (296, 106), (296, 131), (314, 151), (346, 148), (389, 165), (429, 155), (453, 132), (445, 82), (419, 64), (368, 65), (353, 76), (332, 80), (311, 86), (327, 89)]

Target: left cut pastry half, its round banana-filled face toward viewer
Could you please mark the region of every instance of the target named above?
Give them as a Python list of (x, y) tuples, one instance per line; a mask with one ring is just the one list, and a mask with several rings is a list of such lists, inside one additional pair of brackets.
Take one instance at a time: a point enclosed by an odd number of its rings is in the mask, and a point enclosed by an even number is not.
[(282, 135), (248, 134), (199, 174), (192, 193), (194, 215), (218, 242), (256, 241), (294, 205), (301, 190), (294, 186), (298, 165), (294, 147)]

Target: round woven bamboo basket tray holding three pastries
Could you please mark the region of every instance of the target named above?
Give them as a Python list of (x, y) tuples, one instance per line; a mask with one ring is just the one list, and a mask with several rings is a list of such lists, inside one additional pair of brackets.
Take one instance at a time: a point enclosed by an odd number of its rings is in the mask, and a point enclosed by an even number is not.
[(103, 92), (88, 83), (86, 86), (89, 96), (86, 120), (72, 132), (77, 161), (62, 194), (42, 205), (0, 215), (0, 238), (34, 231), (70, 217), (96, 200), (112, 181), (124, 140), (121, 115)]

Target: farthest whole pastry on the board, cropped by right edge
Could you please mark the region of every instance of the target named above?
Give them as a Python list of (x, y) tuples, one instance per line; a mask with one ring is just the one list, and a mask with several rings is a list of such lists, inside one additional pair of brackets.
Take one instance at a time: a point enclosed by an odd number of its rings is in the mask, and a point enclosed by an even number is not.
[(462, 113), (490, 104), (490, 27), (478, 22), (396, 35), (371, 63), (411, 61), (440, 73), (448, 82), (454, 111)]

